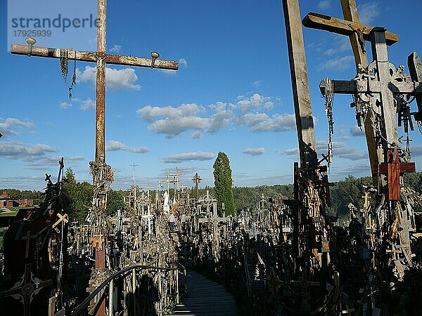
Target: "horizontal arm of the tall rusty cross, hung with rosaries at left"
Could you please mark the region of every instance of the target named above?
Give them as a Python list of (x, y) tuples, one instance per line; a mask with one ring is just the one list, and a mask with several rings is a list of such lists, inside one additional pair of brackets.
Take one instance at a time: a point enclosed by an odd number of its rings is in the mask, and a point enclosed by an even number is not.
[[(17, 54), (17, 55), (27, 55), (28, 46), (11, 44), (11, 53)], [(39, 56), (39, 57), (48, 57), (48, 58), (60, 58), (60, 48), (33, 46), (31, 55)], [(87, 61), (87, 62), (97, 61), (96, 53), (91, 53), (87, 51), (72, 51), (72, 49), (69, 49), (68, 51), (68, 58), (71, 60), (76, 59), (76, 60), (82, 60), (82, 61)], [(153, 60), (151, 58), (106, 54), (105, 62), (107, 64), (112, 64), (112, 65), (151, 67)], [(172, 61), (172, 60), (157, 59), (155, 60), (153, 68), (178, 70), (179, 62)]]

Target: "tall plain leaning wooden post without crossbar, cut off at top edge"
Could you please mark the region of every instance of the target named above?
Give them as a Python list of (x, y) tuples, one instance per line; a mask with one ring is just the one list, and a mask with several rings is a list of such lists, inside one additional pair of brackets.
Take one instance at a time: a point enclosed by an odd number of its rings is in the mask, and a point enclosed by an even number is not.
[(283, 11), (299, 140), (300, 166), (305, 166), (306, 164), (316, 164), (318, 159), (298, 0), (283, 0)]

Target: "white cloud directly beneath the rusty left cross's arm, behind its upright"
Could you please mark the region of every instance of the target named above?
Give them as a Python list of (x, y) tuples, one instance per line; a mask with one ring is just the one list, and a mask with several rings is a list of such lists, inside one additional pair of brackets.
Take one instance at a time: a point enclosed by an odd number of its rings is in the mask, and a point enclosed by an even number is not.
[[(87, 66), (81, 72), (77, 69), (77, 79), (82, 82), (88, 82), (95, 86), (96, 67)], [(141, 90), (141, 86), (136, 84), (138, 76), (132, 68), (123, 68), (120, 70), (106, 68), (106, 88), (110, 90)]]

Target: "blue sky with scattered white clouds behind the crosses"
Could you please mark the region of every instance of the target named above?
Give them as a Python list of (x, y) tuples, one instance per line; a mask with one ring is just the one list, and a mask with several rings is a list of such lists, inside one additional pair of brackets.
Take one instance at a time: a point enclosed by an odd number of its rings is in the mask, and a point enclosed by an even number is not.
[[(293, 181), (298, 141), (281, 1), (108, 2), (109, 52), (149, 57), (158, 51), (160, 58), (180, 62), (178, 72), (110, 65), (106, 159), (115, 171), (113, 188), (129, 187), (133, 162), (143, 186), (156, 186), (176, 166), (186, 173), (185, 185), (192, 185), (195, 172), (201, 185), (212, 185), (219, 151), (228, 154), (237, 186)], [(44, 173), (56, 174), (62, 156), (77, 180), (91, 182), (95, 65), (77, 62), (77, 85), (68, 100), (58, 60), (8, 53), (6, 0), (0, 3), (0, 187), (41, 190)], [(362, 22), (399, 34), (400, 41), (389, 48), (396, 67), (407, 67), (412, 51), (422, 53), (421, 1), (357, 4)], [(343, 16), (336, 0), (300, 1), (300, 11), (302, 17), (308, 12)], [(321, 156), (328, 131), (319, 81), (352, 79), (354, 62), (347, 37), (314, 29), (304, 29), (304, 37)], [(68, 46), (96, 50), (95, 39), (81, 41)], [(37, 45), (44, 46), (43, 40)], [(72, 70), (69, 62), (69, 78)], [(335, 96), (333, 103), (331, 180), (369, 175), (366, 143), (350, 102), (351, 96)], [(418, 131), (411, 138), (418, 166), (422, 138)]]

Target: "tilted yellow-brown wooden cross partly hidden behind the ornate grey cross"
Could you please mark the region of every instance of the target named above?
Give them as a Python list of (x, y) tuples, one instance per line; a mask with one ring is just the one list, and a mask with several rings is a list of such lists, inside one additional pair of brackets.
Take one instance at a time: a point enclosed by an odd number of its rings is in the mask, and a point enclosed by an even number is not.
[[(371, 34), (373, 27), (362, 25), (359, 22), (356, 0), (341, 0), (341, 6), (345, 20), (318, 13), (308, 13), (305, 18), (303, 18), (302, 24), (305, 27), (324, 29), (328, 32), (348, 36), (354, 54), (356, 70), (359, 71), (359, 67), (368, 66), (365, 43), (370, 40), (369, 34)], [(385, 32), (385, 42), (387, 45), (395, 44), (397, 41), (399, 41), (399, 36), (397, 34)], [(375, 131), (373, 130), (371, 121), (373, 121), (373, 117), (371, 112), (368, 112), (364, 118), (366, 146), (368, 147), (369, 164), (371, 165), (373, 181), (376, 183), (377, 177), (375, 166), (378, 166), (378, 164), (384, 161), (384, 153), (383, 150), (376, 145)]]

